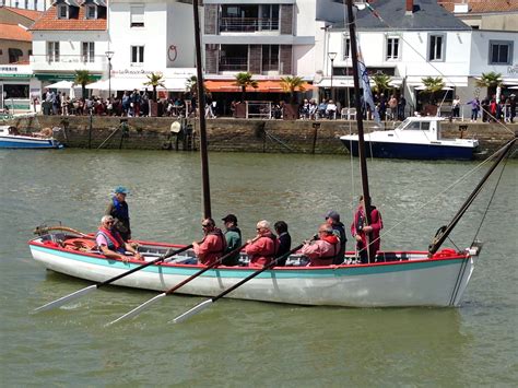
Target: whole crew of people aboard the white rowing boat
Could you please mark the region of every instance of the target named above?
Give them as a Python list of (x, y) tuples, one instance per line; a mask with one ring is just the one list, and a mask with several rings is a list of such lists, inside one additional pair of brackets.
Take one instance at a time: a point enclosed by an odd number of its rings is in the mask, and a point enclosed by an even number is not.
[[(96, 235), (98, 249), (107, 258), (122, 261), (128, 261), (131, 257), (141, 259), (138, 247), (130, 242), (131, 227), (126, 202), (128, 193), (125, 187), (119, 186), (115, 189)], [(361, 197), (351, 224), (351, 235), (355, 239), (355, 256), (361, 263), (375, 262), (380, 248), (379, 233), (384, 227), (381, 214), (376, 207), (372, 207), (369, 215), (370, 223), (367, 224), (365, 202)], [(214, 266), (221, 262), (228, 267), (242, 264), (254, 268), (283, 267), (287, 264), (290, 254), (294, 252), (289, 226), (284, 221), (278, 221), (273, 226), (267, 220), (257, 222), (256, 236), (245, 243), (235, 214), (227, 214), (222, 222), (224, 230), (217, 227), (211, 217), (202, 220), (202, 239), (192, 243), (196, 259), (188, 259), (185, 263)], [(346, 240), (345, 226), (340, 221), (340, 214), (330, 211), (326, 214), (325, 222), (319, 225), (318, 233), (302, 245), (298, 251), (302, 259), (296, 264), (340, 266), (345, 262)], [(245, 263), (240, 258), (242, 251), (248, 257)]]

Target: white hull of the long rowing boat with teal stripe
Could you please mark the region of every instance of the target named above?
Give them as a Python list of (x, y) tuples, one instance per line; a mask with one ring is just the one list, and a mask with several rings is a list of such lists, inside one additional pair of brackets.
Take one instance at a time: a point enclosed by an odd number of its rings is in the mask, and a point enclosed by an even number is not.
[[(47, 269), (94, 282), (103, 282), (142, 264), (142, 261), (123, 263), (101, 255), (49, 248), (34, 240), (30, 245), (34, 259)], [(412, 252), (410, 257), (407, 261), (374, 264), (275, 268), (245, 283), (227, 297), (350, 307), (457, 306), (470, 280), (473, 257), (456, 254), (449, 258), (426, 259), (425, 252)], [(163, 292), (201, 268), (153, 264), (111, 284)], [(220, 267), (177, 292), (215, 296), (256, 270)]]

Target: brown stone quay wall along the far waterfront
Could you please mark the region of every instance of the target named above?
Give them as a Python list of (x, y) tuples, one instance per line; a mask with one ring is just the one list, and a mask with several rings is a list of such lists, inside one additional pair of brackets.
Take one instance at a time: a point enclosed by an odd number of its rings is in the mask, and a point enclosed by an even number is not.
[[(121, 122), (125, 121), (122, 125)], [(31, 130), (62, 128), (57, 139), (68, 148), (132, 149), (132, 150), (197, 150), (199, 149), (199, 121), (186, 120), (193, 136), (183, 139), (172, 132), (166, 117), (107, 117), (107, 116), (37, 116)], [(209, 151), (266, 152), (266, 153), (348, 153), (339, 138), (356, 133), (356, 121), (345, 120), (260, 120), (217, 118), (208, 119)], [(23, 130), (24, 124), (17, 122)], [(460, 126), (467, 126), (464, 138), (479, 139), (485, 157), (496, 151), (518, 131), (518, 124), (447, 122), (443, 124), (444, 138), (460, 137)], [(388, 122), (387, 129), (393, 124)], [(507, 128), (506, 128), (507, 127)], [(126, 128), (126, 129), (125, 129)], [(365, 131), (373, 131), (374, 122), (364, 122)], [(510, 130), (509, 130), (510, 129)], [(187, 141), (186, 141), (187, 140)], [(515, 154), (515, 157), (518, 157)]]

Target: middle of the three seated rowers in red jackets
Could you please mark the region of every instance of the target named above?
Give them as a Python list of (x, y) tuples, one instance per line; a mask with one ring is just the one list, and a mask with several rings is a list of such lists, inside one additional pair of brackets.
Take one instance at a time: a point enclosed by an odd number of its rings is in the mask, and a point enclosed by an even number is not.
[(249, 239), (247, 244), (245, 251), (250, 257), (250, 267), (268, 266), (275, 258), (279, 249), (276, 237), (266, 220), (257, 223), (257, 237), (254, 240)]

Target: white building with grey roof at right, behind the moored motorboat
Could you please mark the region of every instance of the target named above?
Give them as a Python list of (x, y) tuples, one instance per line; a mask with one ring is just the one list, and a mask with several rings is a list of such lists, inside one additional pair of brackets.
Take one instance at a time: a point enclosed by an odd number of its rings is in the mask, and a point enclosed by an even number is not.
[[(413, 107), (421, 105), (422, 79), (426, 77), (440, 77), (446, 92), (451, 90), (447, 98), (457, 94), (463, 102), (475, 94), (485, 97), (486, 91), (475, 86), (482, 73), (501, 73), (504, 85), (518, 85), (518, 33), (472, 30), (429, 1), (379, 0), (373, 7), (381, 20), (368, 10), (356, 14), (358, 45), (367, 70), (370, 75), (390, 75), (392, 86), (401, 87)], [(331, 86), (332, 71), (338, 99), (346, 105), (353, 87), (349, 27), (330, 28), (328, 52), (337, 56), (319, 85)]]

